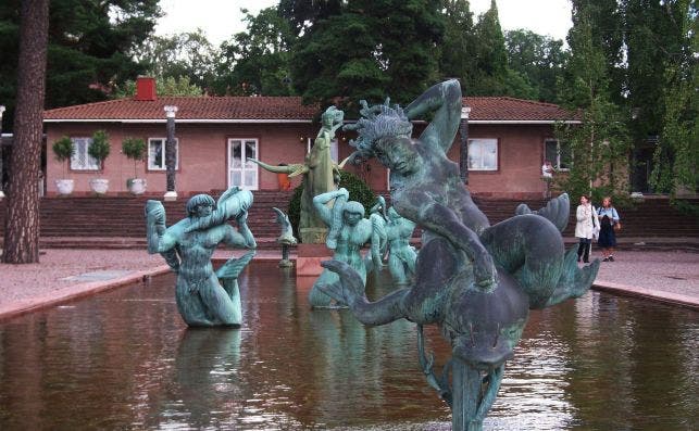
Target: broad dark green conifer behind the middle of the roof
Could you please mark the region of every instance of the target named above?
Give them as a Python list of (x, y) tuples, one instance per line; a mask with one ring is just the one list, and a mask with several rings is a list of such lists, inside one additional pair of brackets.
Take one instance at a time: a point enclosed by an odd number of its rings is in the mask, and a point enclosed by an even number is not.
[(294, 86), (307, 101), (390, 94), (405, 103), (434, 81), (441, 40), (436, 0), (349, 0), (307, 25), (292, 48)]

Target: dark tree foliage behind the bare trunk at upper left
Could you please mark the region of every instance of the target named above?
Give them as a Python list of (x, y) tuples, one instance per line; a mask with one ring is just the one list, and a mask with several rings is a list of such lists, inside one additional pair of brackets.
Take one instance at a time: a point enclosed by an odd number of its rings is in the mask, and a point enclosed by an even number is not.
[[(45, 107), (104, 100), (112, 84), (142, 72), (129, 53), (152, 33), (158, 2), (52, 0)], [(20, 0), (0, 1), (0, 98), (9, 121), (17, 93), (18, 16)]]

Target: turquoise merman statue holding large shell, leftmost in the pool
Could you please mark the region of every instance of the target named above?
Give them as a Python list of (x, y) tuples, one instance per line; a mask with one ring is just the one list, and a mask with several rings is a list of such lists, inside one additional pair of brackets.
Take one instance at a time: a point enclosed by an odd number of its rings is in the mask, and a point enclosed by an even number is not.
[[(148, 253), (160, 253), (177, 274), (177, 309), (190, 327), (239, 326), (242, 322), (238, 275), (254, 251), (230, 258), (214, 271), (211, 256), (223, 242), (242, 249), (257, 248), (248, 228), (252, 193), (233, 188), (219, 202), (197, 194), (187, 202), (187, 218), (165, 227), (165, 208), (159, 201), (146, 203)], [(235, 218), (238, 230), (226, 221)]]

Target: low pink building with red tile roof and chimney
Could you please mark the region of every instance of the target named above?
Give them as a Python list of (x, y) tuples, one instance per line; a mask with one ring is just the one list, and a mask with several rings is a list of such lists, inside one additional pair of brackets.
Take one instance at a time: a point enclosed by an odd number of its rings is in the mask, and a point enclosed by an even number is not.
[[(150, 83), (150, 84), (149, 84)], [(134, 99), (121, 99), (60, 107), (45, 112), (47, 131), (47, 193), (55, 195), (54, 180), (65, 176), (65, 165), (53, 157), (52, 143), (68, 136), (76, 147), (67, 177), (75, 180), (74, 194), (89, 194), (88, 181), (98, 176), (110, 180), (108, 194), (127, 193), (134, 162), (121, 153), (125, 138), (142, 138), (148, 156), (139, 163), (138, 177), (148, 181), (148, 193), (165, 191), (165, 105), (176, 115), (176, 190), (180, 197), (240, 186), (251, 190), (277, 190), (279, 181), (247, 157), (270, 164), (300, 163), (319, 126), (317, 106), (304, 106), (292, 97), (163, 97), (139, 83)], [(545, 189), (541, 164), (550, 160), (564, 169), (565, 149), (553, 138), (556, 122), (577, 123), (558, 105), (513, 98), (464, 98), (469, 115), (469, 176), (474, 194), (492, 198), (540, 198)], [(416, 129), (420, 129), (416, 124)], [(107, 130), (112, 151), (103, 172), (87, 154), (90, 137)], [(333, 150), (339, 160), (351, 153), (352, 136), (338, 134)], [(459, 136), (450, 151), (458, 162)], [(375, 161), (349, 167), (374, 190), (387, 189), (387, 172)], [(296, 179), (292, 186), (298, 183)]]

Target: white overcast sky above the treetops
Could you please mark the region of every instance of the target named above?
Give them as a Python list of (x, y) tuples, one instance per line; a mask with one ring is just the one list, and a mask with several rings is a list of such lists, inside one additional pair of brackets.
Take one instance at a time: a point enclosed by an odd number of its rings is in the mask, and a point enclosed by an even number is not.
[[(245, 30), (241, 8), (254, 14), (277, 3), (278, 0), (161, 0), (165, 16), (160, 18), (155, 33), (172, 35), (200, 27), (219, 46)], [(497, 0), (497, 3), (503, 30), (527, 28), (565, 40), (572, 25), (570, 0)], [(471, 0), (471, 11), (476, 16), (489, 5), (490, 0)]]

